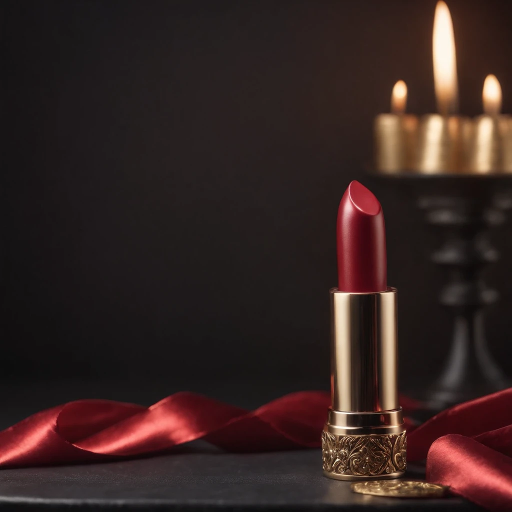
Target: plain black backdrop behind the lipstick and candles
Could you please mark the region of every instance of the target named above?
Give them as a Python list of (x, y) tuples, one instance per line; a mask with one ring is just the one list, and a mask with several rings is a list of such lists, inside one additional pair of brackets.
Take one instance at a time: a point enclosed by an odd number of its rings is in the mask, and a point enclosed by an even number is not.
[[(449, 2), (461, 111), (512, 111), (512, 3)], [(368, 177), (397, 79), (435, 108), (435, 1), (4, 4), (4, 376), (328, 386), (335, 217), (371, 186), (399, 288), (404, 390), (444, 360), (435, 233)], [(509, 229), (487, 272), (508, 373)], [(197, 382), (204, 382), (198, 385)], [(78, 398), (78, 397), (77, 397)]]

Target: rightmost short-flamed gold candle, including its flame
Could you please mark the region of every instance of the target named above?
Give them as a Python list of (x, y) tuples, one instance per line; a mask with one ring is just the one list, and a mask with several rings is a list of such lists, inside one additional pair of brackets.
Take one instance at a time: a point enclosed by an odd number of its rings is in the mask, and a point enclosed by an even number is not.
[(475, 134), (470, 156), (470, 170), (475, 173), (499, 172), (510, 165), (512, 148), (508, 141), (510, 119), (501, 114), (501, 86), (494, 75), (483, 83), (484, 114), (475, 120)]

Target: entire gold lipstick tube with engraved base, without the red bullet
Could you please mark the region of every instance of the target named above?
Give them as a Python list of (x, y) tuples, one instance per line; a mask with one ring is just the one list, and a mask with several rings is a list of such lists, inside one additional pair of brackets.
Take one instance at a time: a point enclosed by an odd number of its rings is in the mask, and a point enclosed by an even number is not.
[(398, 404), (397, 291), (331, 295), (332, 405), (322, 433), (324, 475), (398, 478), (406, 431)]

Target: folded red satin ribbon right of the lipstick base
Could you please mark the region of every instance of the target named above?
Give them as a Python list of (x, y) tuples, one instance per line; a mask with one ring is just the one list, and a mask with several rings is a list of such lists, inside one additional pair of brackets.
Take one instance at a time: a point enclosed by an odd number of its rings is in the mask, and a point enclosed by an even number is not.
[[(489, 510), (512, 510), (512, 388), (461, 403), (408, 435), (426, 478)], [(430, 448), (430, 450), (429, 450)]]

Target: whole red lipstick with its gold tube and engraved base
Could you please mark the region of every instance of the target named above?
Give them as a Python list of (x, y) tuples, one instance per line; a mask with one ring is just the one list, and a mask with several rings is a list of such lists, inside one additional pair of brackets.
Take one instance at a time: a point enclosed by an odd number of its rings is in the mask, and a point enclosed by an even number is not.
[(397, 290), (387, 286), (382, 208), (357, 181), (339, 203), (336, 234), (324, 474), (337, 480), (398, 478), (406, 471), (407, 439), (398, 404)]

